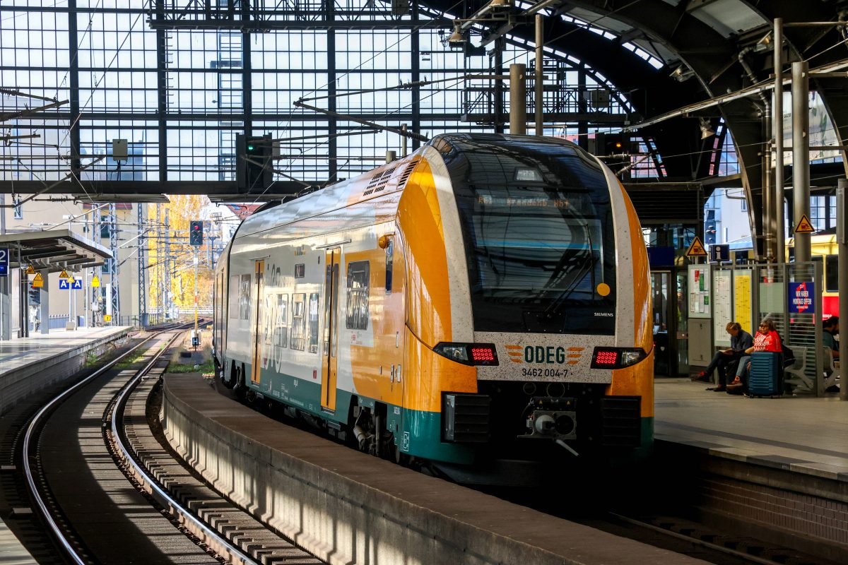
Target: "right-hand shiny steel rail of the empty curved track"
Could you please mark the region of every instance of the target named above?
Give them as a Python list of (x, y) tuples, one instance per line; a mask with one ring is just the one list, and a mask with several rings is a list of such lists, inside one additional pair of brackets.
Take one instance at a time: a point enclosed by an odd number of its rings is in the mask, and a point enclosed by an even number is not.
[(259, 565), (259, 562), (256, 562), (252, 557), (249, 557), (243, 551), (241, 551), (235, 544), (233, 544), (230, 540), (227, 540), (226, 537), (220, 535), (219, 532), (215, 531), (215, 529), (210, 528), (206, 523), (204, 523), (201, 519), (194, 516), (194, 514), (188, 510), (186, 507), (181, 505), (180, 502), (176, 501), (173, 496), (159, 485), (159, 483), (151, 477), (147, 469), (145, 469), (142, 465), (137, 463), (135, 457), (132, 457), (130, 450), (127, 448), (124, 443), (123, 437), (120, 435), (118, 430), (118, 414), (123, 414), (124, 407), (126, 404), (127, 396), (129, 396), (130, 392), (135, 389), (138, 381), (144, 377), (144, 375), (148, 374), (151, 368), (153, 368), (153, 364), (159, 361), (159, 357), (165, 352), (165, 350), (170, 347), (170, 344), (173, 343), (174, 340), (179, 336), (179, 334), (175, 335), (168, 344), (157, 352), (153, 358), (150, 360), (150, 363), (147, 364), (142, 370), (140, 370), (136, 376), (127, 381), (126, 385), (119, 391), (118, 397), (114, 402), (114, 407), (112, 408), (112, 436), (114, 442), (120, 448), (121, 455), (124, 457), (124, 460), (128, 465), (132, 467), (132, 473), (136, 475), (137, 479), (142, 479), (146, 482), (149, 487), (156, 492), (156, 495), (160, 497), (161, 500), (165, 500), (170, 507), (174, 508), (176, 512), (179, 512), (182, 518), (190, 521), (194, 526), (198, 529), (201, 529), (204, 532), (204, 535), (209, 536), (212, 540), (219, 543), (220, 546), (226, 548), (226, 551), (230, 554), (230, 557), (235, 557), (240, 559), (246, 565)]

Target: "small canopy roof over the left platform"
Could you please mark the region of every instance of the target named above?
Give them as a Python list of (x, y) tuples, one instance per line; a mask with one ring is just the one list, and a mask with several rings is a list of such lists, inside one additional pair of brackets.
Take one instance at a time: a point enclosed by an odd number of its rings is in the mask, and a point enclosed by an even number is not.
[(71, 230), (7, 233), (0, 235), (0, 247), (8, 247), (10, 268), (32, 265), (49, 273), (97, 267), (112, 258), (109, 249)]

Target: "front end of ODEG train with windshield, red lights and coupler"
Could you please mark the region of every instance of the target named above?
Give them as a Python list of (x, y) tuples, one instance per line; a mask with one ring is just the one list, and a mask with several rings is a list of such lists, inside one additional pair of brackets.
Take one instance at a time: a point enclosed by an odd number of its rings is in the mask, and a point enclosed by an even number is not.
[(466, 259), (452, 262), (466, 273), (450, 281), (453, 335), (466, 339), (432, 351), (477, 374), (477, 391), (442, 392), (442, 441), (488, 465), (643, 456), (654, 415), (649, 268), (618, 180), (562, 140), (431, 145), (461, 234), (448, 256)]

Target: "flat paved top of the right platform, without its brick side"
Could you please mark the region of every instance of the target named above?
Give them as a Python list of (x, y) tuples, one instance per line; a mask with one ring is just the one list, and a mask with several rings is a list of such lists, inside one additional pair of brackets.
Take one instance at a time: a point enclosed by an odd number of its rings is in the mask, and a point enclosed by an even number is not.
[(746, 398), (706, 391), (709, 383), (656, 379), (657, 440), (724, 457), (848, 482), (848, 402), (820, 398)]

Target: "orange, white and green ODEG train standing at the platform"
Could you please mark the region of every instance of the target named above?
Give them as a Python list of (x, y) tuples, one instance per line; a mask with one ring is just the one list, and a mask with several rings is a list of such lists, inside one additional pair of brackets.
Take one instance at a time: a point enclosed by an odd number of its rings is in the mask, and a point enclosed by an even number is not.
[(220, 382), (450, 479), (653, 445), (647, 252), (570, 141), (446, 134), (244, 219), (215, 269)]

